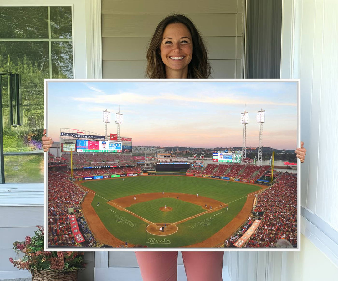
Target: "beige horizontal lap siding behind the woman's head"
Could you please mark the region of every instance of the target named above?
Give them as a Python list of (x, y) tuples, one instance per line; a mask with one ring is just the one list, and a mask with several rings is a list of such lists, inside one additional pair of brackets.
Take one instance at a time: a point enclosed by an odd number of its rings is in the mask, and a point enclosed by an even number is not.
[(103, 78), (145, 78), (152, 33), (172, 13), (187, 15), (203, 34), (213, 78), (242, 78), (242, 0), (171, 1), (179, 11), (166, 6), (167, 1), (102, 0)]

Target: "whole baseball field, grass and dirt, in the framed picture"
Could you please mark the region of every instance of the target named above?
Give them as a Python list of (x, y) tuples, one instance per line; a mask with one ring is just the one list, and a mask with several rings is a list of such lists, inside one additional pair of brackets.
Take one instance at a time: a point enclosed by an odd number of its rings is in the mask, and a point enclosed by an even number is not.
[(253, 184), (177, 175), (78, 184), (88, 191), (81, 208), (90, 229), (100, 242), (114, 247), (125, 241), (128, 247), (215, 247), (243, 223), (254, 194), (262, 190)]

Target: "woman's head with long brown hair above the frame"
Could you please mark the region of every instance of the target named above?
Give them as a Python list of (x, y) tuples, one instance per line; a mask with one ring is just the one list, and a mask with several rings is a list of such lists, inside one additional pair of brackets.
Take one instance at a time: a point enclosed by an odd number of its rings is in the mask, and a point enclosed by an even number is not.
[(208, 52), (192, 21), (183, 15), (163, 19), (147, 51), (147, 77), (208, 78), (210, 73)]

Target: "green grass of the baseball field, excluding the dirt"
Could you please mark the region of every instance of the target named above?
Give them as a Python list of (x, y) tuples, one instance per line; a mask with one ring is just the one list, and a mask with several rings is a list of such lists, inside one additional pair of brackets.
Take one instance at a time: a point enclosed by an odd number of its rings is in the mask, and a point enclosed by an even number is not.
[[(96, 192), (92, 206), (103, 224), (115, 237), (131, 244), (142, 244), (148, 247), (182, 247), (206, 240), (228, 224), (243, 208), (246, 195), (259, 190), (255, 185), (240, 182), (229, 182), (210, 178), (177, 176), (144, 176), (128, 177), (99, 181), (82, 182), (81, 184)], [(147, 224), (126, 211), (120, 211), (105, 204), (108, 199), (153, 192), (176, 192), (196, 194), (213, 198), (228, 204), (228, 211), (222, 208), (213, 213), (206, 213), (185, 223), (178, 224), (178, 231), (168, 236), (151, 235), (146, 232)], [(168, 201), (169, 200), (169, 201)], [(97, 202), (100, 205), (97, 206)], [(160, 211), (164, 205), (173, 208), (170, 212)], [(198, 205), (160, 198), (148, 202), (133, 204), (127, 208), (131, 212), (150, 220), (153, 223), (172, 223), (205, 210)], [(93, 230), (95, 233), (95, 230)], [(157, 241), (156, 241), (157, 240)]]

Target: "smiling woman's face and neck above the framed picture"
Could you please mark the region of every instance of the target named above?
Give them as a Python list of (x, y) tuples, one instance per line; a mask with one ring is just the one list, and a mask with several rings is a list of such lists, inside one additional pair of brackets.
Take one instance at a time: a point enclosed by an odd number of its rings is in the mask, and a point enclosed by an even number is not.
[(160, 45), (167, 78), (187, 78), (192, 50), (193, 43), (189, 29), (183, 23), (168, 24), (164, 29)]

